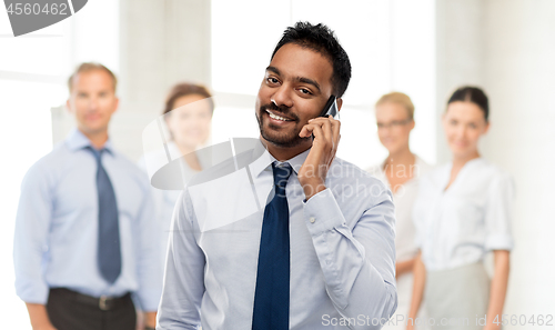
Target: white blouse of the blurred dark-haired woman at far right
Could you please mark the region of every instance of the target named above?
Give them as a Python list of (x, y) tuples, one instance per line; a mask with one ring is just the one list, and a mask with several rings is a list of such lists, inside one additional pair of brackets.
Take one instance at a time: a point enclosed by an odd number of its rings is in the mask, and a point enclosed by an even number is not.
[(455, 181), (452, 163), (421, 179), (414, 207), (416, 243), (426, 270), (444, 270), (483, 260), (492, 250), (511, 250), (511, 176), (483, 158), (468, 161)]

